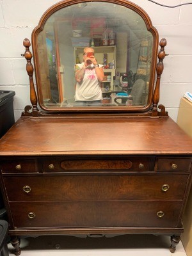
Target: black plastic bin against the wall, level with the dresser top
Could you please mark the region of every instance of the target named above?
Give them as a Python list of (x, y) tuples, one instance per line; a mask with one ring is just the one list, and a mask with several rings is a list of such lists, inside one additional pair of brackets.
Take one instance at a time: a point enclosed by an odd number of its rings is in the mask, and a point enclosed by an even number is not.
[(0, 90), (0, 138), (15, 123), (13, 112), (13, 91)]

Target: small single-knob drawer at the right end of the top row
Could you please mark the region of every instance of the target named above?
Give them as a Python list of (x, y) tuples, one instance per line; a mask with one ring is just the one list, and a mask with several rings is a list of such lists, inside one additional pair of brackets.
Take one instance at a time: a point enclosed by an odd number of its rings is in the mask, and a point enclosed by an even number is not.
[(157, 172), (189, 172), (191, 157), (159, 157), (156, 168)]

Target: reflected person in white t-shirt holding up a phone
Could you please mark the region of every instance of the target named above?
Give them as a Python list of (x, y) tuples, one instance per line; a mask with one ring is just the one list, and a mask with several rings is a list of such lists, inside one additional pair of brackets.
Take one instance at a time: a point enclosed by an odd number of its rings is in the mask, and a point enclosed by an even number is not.
[(99, 65), (94, 56), (94, 49), (85, 47), (84, 62), (76, 65), (76, 95), (77, 105), (99, 105), (102, 100), (100, 82), (104, 79), (103, 65)]

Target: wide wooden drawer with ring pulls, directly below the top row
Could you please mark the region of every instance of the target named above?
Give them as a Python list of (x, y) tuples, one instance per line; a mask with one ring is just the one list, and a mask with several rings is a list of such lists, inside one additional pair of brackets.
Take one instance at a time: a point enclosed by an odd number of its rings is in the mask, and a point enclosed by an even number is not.
[(10, 202), (182, 200), (187, 180), (188, 175), (179, 174), (4, 177)]

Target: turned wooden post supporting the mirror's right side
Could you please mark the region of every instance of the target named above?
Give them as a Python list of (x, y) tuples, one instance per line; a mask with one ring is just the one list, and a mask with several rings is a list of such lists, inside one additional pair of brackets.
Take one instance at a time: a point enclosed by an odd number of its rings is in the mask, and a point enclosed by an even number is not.
[(166, 46), (166, 39), (161, 39), (159, 42), (159, 45), (161, 46), (161, 50), (158, 53), (158, 58), (159, 58), (159, 63), (157, 63), (157, 81), (156, 81), (156, 88), (154, 90), (154, 96), (153, 96), (153, 107), (152, 107), (152, 116), (157, 116), (158, 111), (157, 111), (157, 104), (159, 103), (159, 92), (160, 92), (160, 79), (161, 79), (161, 74), (163, 73), (163, 59), (166, 55), (164, 51), (164, 47)]

